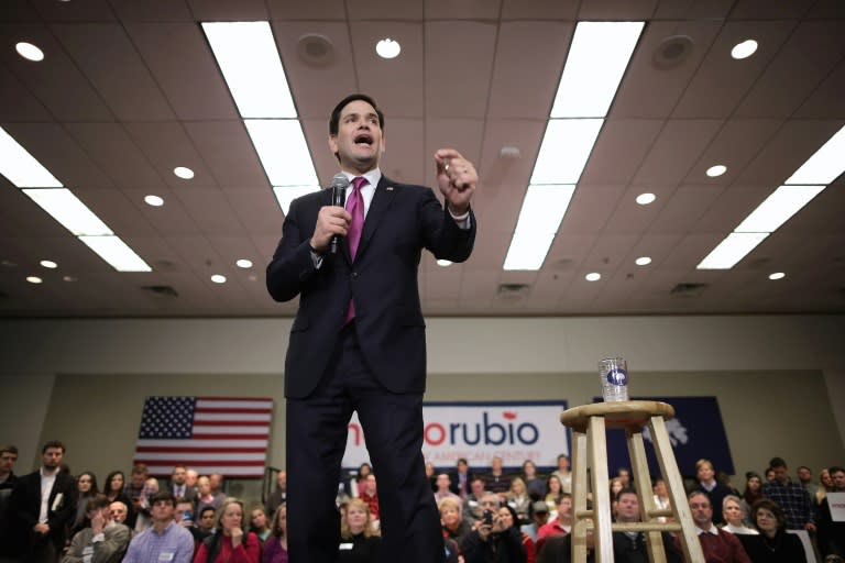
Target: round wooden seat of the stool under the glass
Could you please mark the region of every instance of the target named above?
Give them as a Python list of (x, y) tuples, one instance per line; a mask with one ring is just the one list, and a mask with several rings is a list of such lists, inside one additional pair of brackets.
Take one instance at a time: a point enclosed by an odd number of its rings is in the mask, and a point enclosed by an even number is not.
[(594, 402), (561, 412), (560, 422), (578, 432), (586, 432), (590, 417), (604, 417), (605, 428), (643, 428), (651, 417), (674, 418), (674, 408), (657, 400)]

